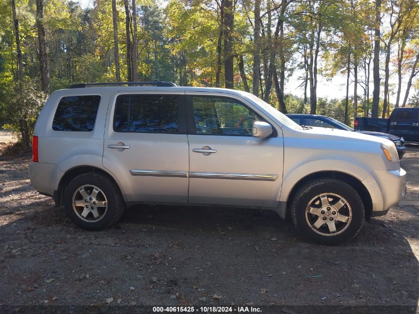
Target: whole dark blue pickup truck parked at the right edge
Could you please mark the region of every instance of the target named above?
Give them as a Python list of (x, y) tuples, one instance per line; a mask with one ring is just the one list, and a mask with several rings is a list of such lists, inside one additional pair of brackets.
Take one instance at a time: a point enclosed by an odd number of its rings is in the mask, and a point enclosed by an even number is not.
[(406, 142), (419, 143), (419, 108), (395, 108), (389, 119), (357, 118), (354, 128), (389, 133), (403, 137)]

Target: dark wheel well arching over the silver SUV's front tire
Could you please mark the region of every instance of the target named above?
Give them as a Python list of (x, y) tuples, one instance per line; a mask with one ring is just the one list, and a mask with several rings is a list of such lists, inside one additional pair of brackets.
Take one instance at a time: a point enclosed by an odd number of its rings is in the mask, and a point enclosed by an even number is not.
[(365, 219), (369, 220), (369, 218), (371, 217), (371, 212), (372, 212), (372, 199), (371, 199), (371, 195), (369, 194), (368, 190), (365, 188), (365, 186), (357, 178), (355, 178), (351, 175), (348, 175), (346, 173), (343, 173), (343, 172), (338, 172), (338, 171), (315, 172), (315, 173), (312, 173), (312, 174), (302, 178), (292, 188), (292, 190), (291, 190), (291, 192), (288, 196), (288, 199), (287, 199), (287, 215), (291, 215), (288, 208), (290, 208), (291, 202), (292, 202), (295, 194), (299, 190), (299, 188), (302, 187), (302, 185), (304, 185), (308, 181), (311, 181), (311, 180), (314, 180), (314, 179), (320, 179), (320, 178), (339, 179), (339, 180), (342, 180), (342, 181), (346, 182), (351, 187), (353, 187), (359, 193), (359, 196), (361, 197), (361, 199), (364, 203)]

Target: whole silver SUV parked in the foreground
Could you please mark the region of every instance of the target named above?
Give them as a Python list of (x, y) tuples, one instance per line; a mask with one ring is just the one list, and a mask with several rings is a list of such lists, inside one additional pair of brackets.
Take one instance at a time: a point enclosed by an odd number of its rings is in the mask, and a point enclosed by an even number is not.
[(55, 91), (35, 126), (29, 173), (89, 230), (136, 203), (253, 207), (290, 214), (326, 245), (352, 239), (406, 191), (387, 139), (299, 126), (249, 93), (170, 82)]

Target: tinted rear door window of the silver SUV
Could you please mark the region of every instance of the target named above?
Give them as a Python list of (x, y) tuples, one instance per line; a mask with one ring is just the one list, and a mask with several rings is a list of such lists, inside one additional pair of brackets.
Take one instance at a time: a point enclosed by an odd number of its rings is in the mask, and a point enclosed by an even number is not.
[(178, 133), (179, 95), (119, 95), (116, 132)]

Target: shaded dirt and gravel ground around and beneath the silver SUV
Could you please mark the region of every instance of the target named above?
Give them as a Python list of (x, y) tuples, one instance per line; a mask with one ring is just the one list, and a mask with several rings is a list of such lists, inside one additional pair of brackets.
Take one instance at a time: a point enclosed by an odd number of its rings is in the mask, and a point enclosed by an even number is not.
[(139, 206), (115, 228), (86, 232), (31, 187), (30, 161), (0, 157), (0, 306), (406, 305), (417, 311), (417, 145), (401, 161), (406, 197), (339, 247), (305, 241), (274, 212), (235, 208)]

